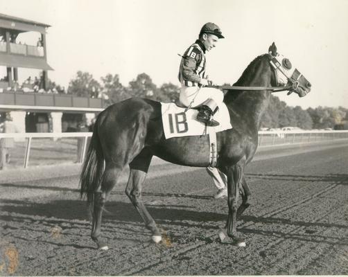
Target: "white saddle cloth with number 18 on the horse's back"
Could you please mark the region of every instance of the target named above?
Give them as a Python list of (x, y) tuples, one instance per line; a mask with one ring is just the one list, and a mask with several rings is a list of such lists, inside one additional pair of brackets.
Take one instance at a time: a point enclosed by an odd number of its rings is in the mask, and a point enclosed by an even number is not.
[[(161, 105), (163, 129), (166, 139), (208, 134), (205, 124), (196, 119), (198, 114), (197, 109), (189, 109), (185, 112), (184, 108), (177, 107), (175, 103), (161, 102)], [(209, 127), (214, 128), (215, 132), (232, 129), (232, 125), (229, 122), (229, 112), (225, 104), (219, 106), (214, 119), (220, 123), (216, 127)]]

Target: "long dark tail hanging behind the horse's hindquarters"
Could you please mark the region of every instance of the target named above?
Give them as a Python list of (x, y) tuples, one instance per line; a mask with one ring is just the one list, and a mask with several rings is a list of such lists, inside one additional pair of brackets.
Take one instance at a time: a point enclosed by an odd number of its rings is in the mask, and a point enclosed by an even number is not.
[(101, 183), (104, 172), (104, 155), (101, 148), (101, 141), (98, 137), (97, 126), (98, 124), (96, 122), (80, 174), (80, 195), (81, 197), (84, 195), (87, 196), (87, 202), (91, 208), (94, 203), (94, 192)]

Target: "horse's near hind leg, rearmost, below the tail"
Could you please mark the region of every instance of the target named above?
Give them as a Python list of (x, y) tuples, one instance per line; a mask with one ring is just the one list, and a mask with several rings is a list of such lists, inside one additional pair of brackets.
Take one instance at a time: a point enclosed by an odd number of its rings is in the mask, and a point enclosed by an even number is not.
[(112, 162), (107, 162), (105, 165), (105, 171), (101, 186), (94, 192), (94, 205), (93, 205), (93, 221), (92, 221), (92, 240), (98, 245), (98, 249), (106, 250), (107, 245), (101, 240), (101, 218), (103, 208), (107, 196), (110, 194), (112, 188), (114, 188), (116, 181), (121, 173), (122, 169), (118, 168)]

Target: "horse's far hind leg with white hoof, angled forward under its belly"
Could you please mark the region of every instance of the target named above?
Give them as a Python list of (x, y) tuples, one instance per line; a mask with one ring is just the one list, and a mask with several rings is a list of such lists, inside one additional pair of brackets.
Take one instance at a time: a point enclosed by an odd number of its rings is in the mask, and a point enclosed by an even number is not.
[(157, 229), (155, 220), (151, 217), (150, 213), (143, 204), (141, 199), (141, 192), (143, 188), (143, 182), (148, 174), (148, 167), (150, 166), (153, 154), (144, 149), (135, 159), (130, 163), (130, 177), (128, 179), (127, 188), (125, 188), (125, 194), (129, 197), (134, 208), (137, 209), (141, 218), (145, 222), (145, 226), (152, 233), (152, 239), (155, 242), (162, 240), (161, 232)]

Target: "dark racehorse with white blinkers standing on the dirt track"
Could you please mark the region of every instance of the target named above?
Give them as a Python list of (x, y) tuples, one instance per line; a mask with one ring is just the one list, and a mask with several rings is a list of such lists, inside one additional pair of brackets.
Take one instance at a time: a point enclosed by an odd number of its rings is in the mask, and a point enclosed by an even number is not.
[[(279, 87), (295, 84), (293, 91), (305, 96), (311, 84), (292, 69), (288, 59), (282, 59), (273, 43), (269, 53), (256, 57), (236, 82), (243, 87)], [(286, 82), (280, 82), (281, 78)], [(236, 231), (237, 215), (241, 215), (250, 191), (243, 171), (257, 148), (261, 116), (268, 106), (270, 90), (227, 91), (224, 102), (229, 110), (232, 129), (217, 133), (217, 168), (227, 175), (227, 234), (236, 244), (245, 244)], [(96, 119), (87, 157), (80, 176), (81, 195), (87, 195), (92, 208), (92, 239), (99, 249), (107, 249), (101, 240), (101, 218), (107, 196), (115, 186), (123, 168), (130, 166), (125, 194), (137, 209), (152, 239), (159, 242), (161, 232), (141, 199), (143, 182), (153, 155), (184, 166), (209, 166), (208, 136), (184, 136), (165, 139), (161, 104), (143, 98), (130, 98), (107, 107)], [(105, 161), (105, 163), (104, 163)], [(241, 191), (242, 204), (237, 206)]]

